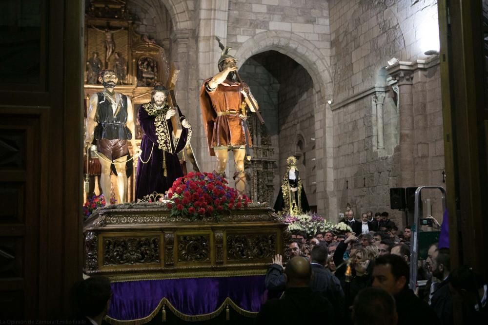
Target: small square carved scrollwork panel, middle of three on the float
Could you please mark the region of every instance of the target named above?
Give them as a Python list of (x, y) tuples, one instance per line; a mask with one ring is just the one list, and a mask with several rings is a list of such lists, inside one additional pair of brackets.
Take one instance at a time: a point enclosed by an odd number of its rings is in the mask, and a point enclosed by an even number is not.
[(209, 262), (210, 236), (178, 236), (178, 262)]

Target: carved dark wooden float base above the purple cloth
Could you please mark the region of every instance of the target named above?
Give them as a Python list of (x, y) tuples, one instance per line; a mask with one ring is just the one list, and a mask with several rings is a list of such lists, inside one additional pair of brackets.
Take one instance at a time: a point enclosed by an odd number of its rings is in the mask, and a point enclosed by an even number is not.
[(84, 223), (83, 271), (119, 280), (262, 273), (273, 255), (283, 255), (286, 226), (265, 204), (218, 222), (170, 217), (159, 203), (114, 205)]

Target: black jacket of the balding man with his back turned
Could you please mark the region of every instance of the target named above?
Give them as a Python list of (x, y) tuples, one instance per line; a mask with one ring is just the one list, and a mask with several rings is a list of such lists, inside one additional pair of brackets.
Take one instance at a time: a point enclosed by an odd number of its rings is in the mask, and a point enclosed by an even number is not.
[(330, 302), (310, 287), (287, 288), (281, 299), (268, 300), (256, 317), (256, 325), (333, 324)]

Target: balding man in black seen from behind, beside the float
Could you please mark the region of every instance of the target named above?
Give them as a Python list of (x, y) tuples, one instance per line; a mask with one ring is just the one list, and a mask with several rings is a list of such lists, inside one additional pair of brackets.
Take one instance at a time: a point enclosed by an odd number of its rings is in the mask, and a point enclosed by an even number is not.
[(322, 294), (309, 287), (311, 276), (310, 263), (303, 257), (293, 257), (286, 265), (283, 297), (268, 300), (261, 306), (255, 324), (332, 324), (332, 306)]

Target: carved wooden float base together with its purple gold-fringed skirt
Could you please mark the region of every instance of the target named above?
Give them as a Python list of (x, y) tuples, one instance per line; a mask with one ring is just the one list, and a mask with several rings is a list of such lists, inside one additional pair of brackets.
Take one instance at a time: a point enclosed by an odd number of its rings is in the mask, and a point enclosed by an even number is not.
[(265, 204), (232, 210), (219, 222), (172, 217), (159, 202), (110, 206), (84, 224), (83, 271), (112, 280), (111, 324), (144, 324), (158, 314), (165, 320), (166, 312), (196, 321), (225, 310), (228, 319), (229, 308), (254, 317), (266, 299), (265, 270), (285, 253), (286, 227)]

